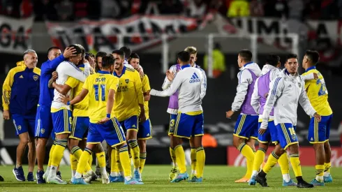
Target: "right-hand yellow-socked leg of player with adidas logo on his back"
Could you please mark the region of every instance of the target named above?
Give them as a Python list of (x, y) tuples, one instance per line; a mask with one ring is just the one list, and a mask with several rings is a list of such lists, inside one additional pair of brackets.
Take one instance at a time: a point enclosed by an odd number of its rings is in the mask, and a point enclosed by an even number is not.
[[(195, 173), (188, 182), (201, 183), (203, 180), (203, 169), (205, 168), (205, 149), (202, 146), (202, 136), (191, 137), (192, 149), (195, 149)], [(192, 162), (191, 162), (192, 163)], [(192, 165), (191, 165), (192, 167)]]

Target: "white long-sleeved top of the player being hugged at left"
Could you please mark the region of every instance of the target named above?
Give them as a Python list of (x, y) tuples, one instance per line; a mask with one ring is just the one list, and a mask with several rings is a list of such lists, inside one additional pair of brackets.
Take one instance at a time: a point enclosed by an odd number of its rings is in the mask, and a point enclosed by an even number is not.
[[(90, 65), (89, 63), (84, 64), (84, 71), (82, 71), (80, 68), (77, 68), (75, 64), (69, 61), (63, 61), (57, 67), (56, 72), (58, 73), (58, 78), (56, 80), (57, 84), (64, 84), (66, 80), (68, 80), (69, 76), (84, 82), (90, 74)], [(66, 94), (66, 96), (70, 96), (70, 91), (68, 91), (68, 94)], [(59, 101), (60, 97), (61, 94), (59, 93), (59, 91), (54, 89), (54, 101), (52, 101), (51, 108), (54, 108), (55, 110), (59, 110), (60, 108), (66, 108), (70, 110), (69, 105), (65, 105), (64, 103), (61, 103), (61, 101)]]

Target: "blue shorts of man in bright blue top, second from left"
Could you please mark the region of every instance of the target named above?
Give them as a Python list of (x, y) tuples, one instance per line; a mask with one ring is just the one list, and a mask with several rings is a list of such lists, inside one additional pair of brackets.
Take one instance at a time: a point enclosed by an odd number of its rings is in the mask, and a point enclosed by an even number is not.
[(36, 115), (35, 137), (50, 138), (53, 130), (51, 106), (38, 106)]

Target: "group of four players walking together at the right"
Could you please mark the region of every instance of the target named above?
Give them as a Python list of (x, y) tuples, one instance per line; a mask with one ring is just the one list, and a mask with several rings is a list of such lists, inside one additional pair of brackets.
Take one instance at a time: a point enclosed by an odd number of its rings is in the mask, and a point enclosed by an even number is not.
[[(281, 167), (283, 186), (311, 188), (332, 182), (329, 145), (332, 109), (327, 101), (325, 80), (315, 68), (319, 61), (318, 52), (306, 51), (302, 61), (305, 73), (302, 75), (297, 72), (296, 54), (288, 54), (283, 70), (279, 69), (280, 57), (275, 54), (267, 57), (262, 70), (251, 59), (250, 51), (239, 52), (237, 94), (232, 109), (226, 112), (230, 119), (241, 110), (235, 124), (233, 145), (246, 157), (247, 170), (246, 175), (235, 182), (248, 182), (249, 185), (258, 182), (261, 186), (268, 186), (266, 175), (276, 163)], [(298, 103), (311, 117), (308, 141), (315, 149), (316, 176), (310, 183), (304, 181), (299, 161), (296, 135)], [(259, 142), (258, 151), (255, 151), (255, 140)], [(263, 163), (270, 143), (276, 147), (267, 163)], [(287, 150), (297, 183), (289, 175)]]

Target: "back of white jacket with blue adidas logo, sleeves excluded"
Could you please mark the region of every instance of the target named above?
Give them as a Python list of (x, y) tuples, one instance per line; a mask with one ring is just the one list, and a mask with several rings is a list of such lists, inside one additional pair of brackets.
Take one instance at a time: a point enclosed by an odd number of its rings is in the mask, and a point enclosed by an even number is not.
[(202, 110), (201, 82), (202, 72), (198, 68), (186, 67), (178, 72), (181, 77), (179, 87), (179, 112), (195, 112)]

